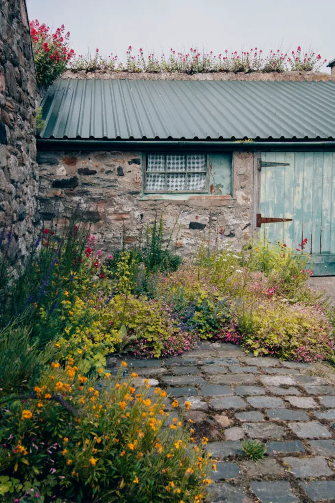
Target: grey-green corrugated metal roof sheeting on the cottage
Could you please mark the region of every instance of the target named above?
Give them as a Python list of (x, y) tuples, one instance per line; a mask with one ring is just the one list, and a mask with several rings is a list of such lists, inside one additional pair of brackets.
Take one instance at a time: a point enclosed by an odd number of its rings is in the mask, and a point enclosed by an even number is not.
[(60, 79), (42, 107), (42, 138), (335, 138), (331, 81)]

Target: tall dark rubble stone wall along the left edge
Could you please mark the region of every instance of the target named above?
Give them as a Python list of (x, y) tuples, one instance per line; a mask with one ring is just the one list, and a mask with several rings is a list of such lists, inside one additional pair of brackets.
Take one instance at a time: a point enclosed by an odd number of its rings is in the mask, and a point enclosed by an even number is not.
[(0, 0), (0, 229), (13, 231), (13, 260), (28, 254), (34, 227), (36, 70), (24, 0)]

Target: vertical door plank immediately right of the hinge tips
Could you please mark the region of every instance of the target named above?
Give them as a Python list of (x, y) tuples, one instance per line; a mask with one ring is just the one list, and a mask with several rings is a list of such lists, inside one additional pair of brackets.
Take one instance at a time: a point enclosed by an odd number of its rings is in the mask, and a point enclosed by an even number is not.
[(303, 172), (304, 152), (295, 152), (294, 156), (294, 181), (293, 181), (293, 247), (297, 248), (301, 242), (301, 222), (303, 217)]

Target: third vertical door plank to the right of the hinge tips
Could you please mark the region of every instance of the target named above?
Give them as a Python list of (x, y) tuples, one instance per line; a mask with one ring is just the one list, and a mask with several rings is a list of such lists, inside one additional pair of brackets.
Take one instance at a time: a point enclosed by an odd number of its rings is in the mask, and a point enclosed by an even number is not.
[(321, 253), (321, 201), (323, 152), (314, 152), (312, 254)]

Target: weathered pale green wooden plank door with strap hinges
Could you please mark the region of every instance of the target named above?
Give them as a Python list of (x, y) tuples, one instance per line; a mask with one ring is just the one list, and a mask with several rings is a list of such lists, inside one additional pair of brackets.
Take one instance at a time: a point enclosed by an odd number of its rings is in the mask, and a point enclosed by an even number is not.
[(269, 241), (307, 237), (314, 276), (335, 275), (335, 152), (261, 152), (260, 212), (292, 218), (262, 224)]

